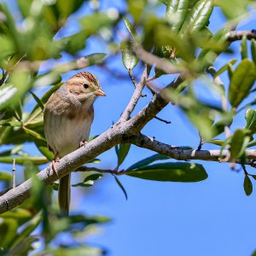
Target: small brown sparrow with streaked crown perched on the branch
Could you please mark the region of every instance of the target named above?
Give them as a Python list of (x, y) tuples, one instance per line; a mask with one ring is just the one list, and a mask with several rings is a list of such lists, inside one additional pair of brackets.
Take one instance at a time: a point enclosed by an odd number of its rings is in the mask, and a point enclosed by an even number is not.
[[(90, 72), (80, 72), (68, 79), (56, 90), (44, 106), (44, 135), (48, 148), (55, 155), (55, 162), (86, 145), (90, 126), (94, 119), (93, 103), (105, 92)], [(59, 208), (61, 214), (69, 214), (70, 178), (67, 174), (59, 182)]]

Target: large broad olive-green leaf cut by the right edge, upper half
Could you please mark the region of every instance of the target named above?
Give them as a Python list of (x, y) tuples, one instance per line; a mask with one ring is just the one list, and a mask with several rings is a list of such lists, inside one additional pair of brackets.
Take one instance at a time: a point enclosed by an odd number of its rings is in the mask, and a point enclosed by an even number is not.
[(256, 67), (252, 61), (243, 59), (230, 80), (229, 100), (236, 108), (249, 95), (256, 79)]

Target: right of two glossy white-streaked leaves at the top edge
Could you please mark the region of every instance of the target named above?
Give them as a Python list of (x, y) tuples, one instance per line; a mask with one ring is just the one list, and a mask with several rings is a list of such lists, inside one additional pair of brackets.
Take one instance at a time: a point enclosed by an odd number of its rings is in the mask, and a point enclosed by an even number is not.
[(186, 16), (180, 32), (193, 33), (207, 26), (212, 15), (212, 9), (212, 0), (198, 1), (189, 12), (189, 15)]

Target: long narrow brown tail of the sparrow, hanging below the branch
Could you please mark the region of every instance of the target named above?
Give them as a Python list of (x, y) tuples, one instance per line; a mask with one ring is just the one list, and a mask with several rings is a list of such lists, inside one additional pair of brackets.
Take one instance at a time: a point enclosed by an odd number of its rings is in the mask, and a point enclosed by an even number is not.
[(59, 207), (61, 214), (67, 216), (69, 212), (70, 204), (70, 177), (71, 174), (67, 174), (61, 177), (59, 183)]

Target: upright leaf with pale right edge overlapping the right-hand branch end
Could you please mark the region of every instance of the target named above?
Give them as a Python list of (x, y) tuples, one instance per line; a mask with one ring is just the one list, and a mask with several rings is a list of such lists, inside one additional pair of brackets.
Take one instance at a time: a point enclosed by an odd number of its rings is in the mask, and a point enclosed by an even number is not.
[(244, 130), (237, 129), (235, 131), (230, 143), (230, 159), (232, 162), (235, 162), (242, 154), (244, 154), (249, 141), (250, 138), (247, 137), (247, 133)]

